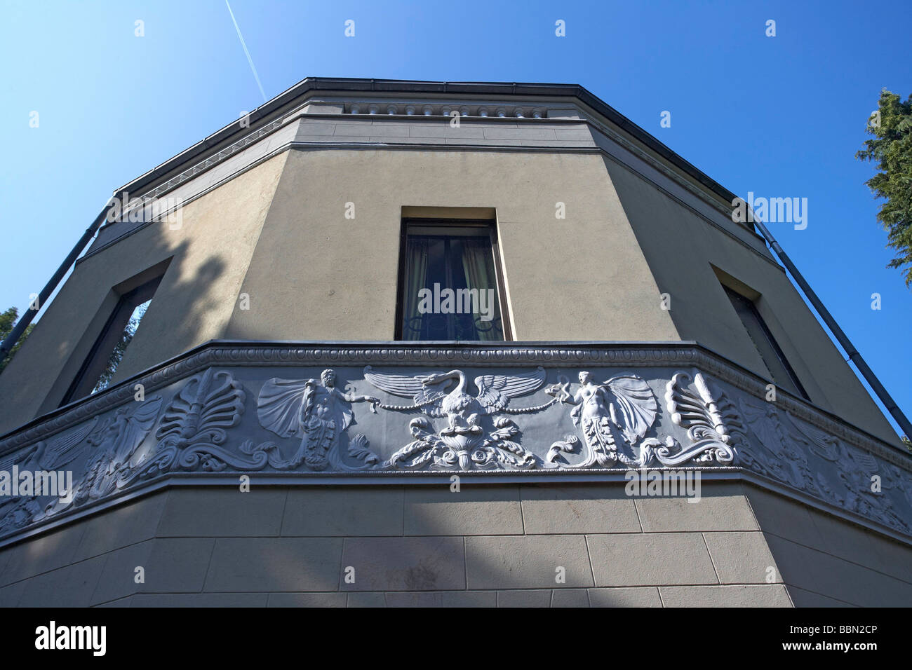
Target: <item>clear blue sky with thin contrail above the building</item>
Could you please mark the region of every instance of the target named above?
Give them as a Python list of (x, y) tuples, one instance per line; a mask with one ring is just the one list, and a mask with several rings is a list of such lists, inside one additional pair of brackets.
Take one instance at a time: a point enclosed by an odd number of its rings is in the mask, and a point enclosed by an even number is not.
[[(263, 97), (224, 0), (0, 6), (0, 309), (22, 313), (111, 191)], [(880, 89), (912, 92), (908, 0), (232, 9), (269, 98), (307, 76), (577, 83), (739, 195), (806, 197), (807, 229), (773, 234), (912, 414), (912, 292), (854, 158)]]

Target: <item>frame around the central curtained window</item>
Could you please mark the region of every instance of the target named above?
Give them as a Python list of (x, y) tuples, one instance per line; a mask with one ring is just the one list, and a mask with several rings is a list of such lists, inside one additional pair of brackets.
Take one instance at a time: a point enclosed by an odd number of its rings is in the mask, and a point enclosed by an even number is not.
[[(503, 340), (459, 340), (460, 342), (513, 342), (513, 328), (510, 323), (510, 310), (507, 308), (506, 283), (503, 281), (503, 267), (501, 266), (500, 246), (497, 242), (497, 222), (488, 219), (420, 219), (407, 217), (402, 219), (399, 232), (399, 272), (396, 282), (396, 327), (394, 337), (396, 342), (442, 342), (448, 340), (405, 340), (402, 339), (402, 317), (405, 310), (405, 280), (406, 258), (409, 228), (459, 228), (462, 230), (477, 229), (487, 232), (491, 239), (491, 253), (493, 256), (494, 281), (497, 283), (497, 303), (500, 309), (501, 324), (503, 325)], [(442, 233), (441, 234), (445, 234)]]

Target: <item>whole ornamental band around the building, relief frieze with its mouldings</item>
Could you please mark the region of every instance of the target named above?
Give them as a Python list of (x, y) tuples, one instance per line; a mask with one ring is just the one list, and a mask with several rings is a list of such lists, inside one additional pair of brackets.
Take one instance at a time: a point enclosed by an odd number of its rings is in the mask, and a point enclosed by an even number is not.
[(0, 544), (181, 484), (634, 470), (751, 481), (912, 544), (907, 454), (696, 343), (226, 341), (0, 439)]

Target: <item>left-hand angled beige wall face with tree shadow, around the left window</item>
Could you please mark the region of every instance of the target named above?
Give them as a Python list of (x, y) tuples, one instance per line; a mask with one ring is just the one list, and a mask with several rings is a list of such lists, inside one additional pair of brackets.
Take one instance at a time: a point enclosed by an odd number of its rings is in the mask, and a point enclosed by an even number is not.
[(286, 154), (78, 263), (0, 376), (0, 433), (57, 407), (116, 304), (111, 288), (172, 257), (112, 383), (222, 337)]

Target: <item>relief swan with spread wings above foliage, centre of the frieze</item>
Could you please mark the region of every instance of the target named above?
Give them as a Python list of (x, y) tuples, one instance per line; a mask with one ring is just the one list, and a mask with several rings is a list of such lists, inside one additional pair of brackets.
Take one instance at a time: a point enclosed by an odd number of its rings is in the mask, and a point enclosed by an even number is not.
[(364, 376), (375, 387), (393, 396), (409, 397), (412, 405), (385, 405), (384, 409), (420, 411), (428, 417), (445, 417), (447, 425), (435, 432), (424, 417), (409, 423), (415, 441), (394, 453), (384, 464), (388, 468), (494, 469), (534, 468), (536, 459), (511, 438), (519, 428), (499, 413), (533, 412), (537, 407), (508, 407), (513, 397), (533, 393), (544, 384), (544, 368), (510, 375), (476, 376), (475, 395), (461, 370), (431, 375), (388, 375), (367, 366)]

